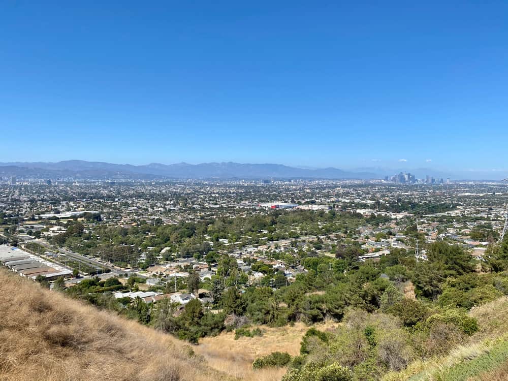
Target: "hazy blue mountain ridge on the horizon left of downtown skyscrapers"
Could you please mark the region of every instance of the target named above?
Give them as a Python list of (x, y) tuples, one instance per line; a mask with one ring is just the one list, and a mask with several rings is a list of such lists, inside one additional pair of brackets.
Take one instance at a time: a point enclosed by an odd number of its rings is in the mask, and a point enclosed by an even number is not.
[(267, 178), (318, 178), (318, 179), (374, 179), (373, 172), (348, 172), (337, 168), (308, 169), (282, 164), (240, 164), (233, 162), (202, 164), (160, 164), (135, 166), (68, 160), (57, 163), (14, 162), (0, 163), (0, 176), (39, 178), (89, 179), (267, 179)]

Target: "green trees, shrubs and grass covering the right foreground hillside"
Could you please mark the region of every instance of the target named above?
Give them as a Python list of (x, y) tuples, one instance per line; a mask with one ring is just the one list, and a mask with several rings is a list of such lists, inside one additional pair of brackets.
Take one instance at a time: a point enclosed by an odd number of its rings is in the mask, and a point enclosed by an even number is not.
[[(410, 262), (386, 267), (391, 284), (379, 308), (369, 311), (346, 301), (342, 324), (326, 332), (311, 328), (283, 380), (482, 379), (508, 361), (508, 337), (495, 328), (507, 324), (508, 274), (499, 271), (507, 248), (504, 241), (490, 249), (489, 273), (475, 272), (468, 253), (445, 242), (432, 244), (428, 262), (418, 267)], [(397, 277), (412, 279), (419, 298), (403, 298), (394, 287)], [(326, 376), (332, 378), (322, 376), (323, 369), (333, 369)]]

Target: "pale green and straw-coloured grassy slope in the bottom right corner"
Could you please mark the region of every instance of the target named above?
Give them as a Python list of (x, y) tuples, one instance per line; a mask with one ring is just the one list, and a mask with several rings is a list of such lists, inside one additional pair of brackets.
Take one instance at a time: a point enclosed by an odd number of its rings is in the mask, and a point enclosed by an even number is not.
[(508, 381), (508, 298), (500, 298), (470, 312), (480, 331), (467, 345), (444, 358), (415, 362), (385, 381)]

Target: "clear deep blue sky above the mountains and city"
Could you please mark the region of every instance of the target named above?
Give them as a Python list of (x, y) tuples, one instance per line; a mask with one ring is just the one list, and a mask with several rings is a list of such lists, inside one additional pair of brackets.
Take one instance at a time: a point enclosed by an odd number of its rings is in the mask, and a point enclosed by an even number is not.
[(0, 5), (0, 162), (508, 168), (505, 0), (77, 3)]

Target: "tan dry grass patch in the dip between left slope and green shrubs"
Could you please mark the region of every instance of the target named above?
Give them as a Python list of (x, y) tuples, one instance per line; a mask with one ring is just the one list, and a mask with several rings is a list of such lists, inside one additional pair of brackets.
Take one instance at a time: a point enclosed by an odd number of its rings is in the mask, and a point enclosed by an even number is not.
[[(327, 330), (337, 323), (327, 322), (315, 325), (316, 329)], [(208, 364), (221, 372), (242, 380), (276, 381), (285, 373), (285, 368), (253, 370), (252, 361), (272, 352), (287, 352), (292, 356), (300, 354), (300, 342), (309, 329), (303, 323), (294, 326), (270, 328), (259, 326), (263, 336), (240, 337), (235, 340), (234, 332), (223, 332), (216, 337), (205, 337), (194, 351), (204, 356)], [(218, 356), (220, 354), (220, 356)]]

